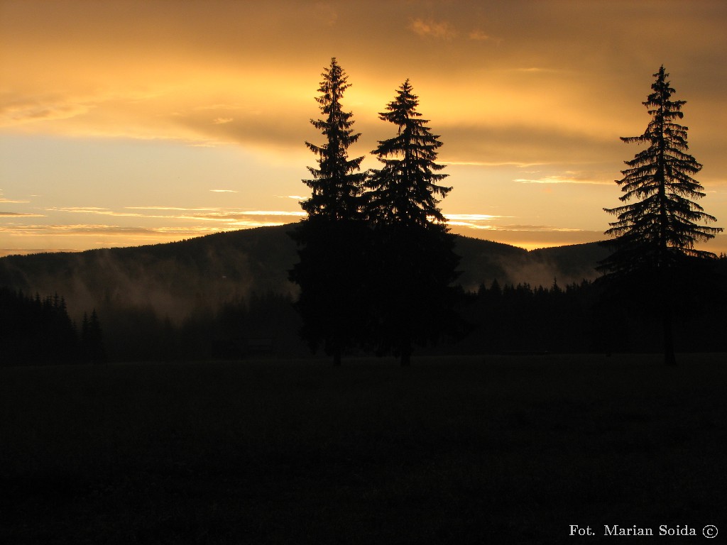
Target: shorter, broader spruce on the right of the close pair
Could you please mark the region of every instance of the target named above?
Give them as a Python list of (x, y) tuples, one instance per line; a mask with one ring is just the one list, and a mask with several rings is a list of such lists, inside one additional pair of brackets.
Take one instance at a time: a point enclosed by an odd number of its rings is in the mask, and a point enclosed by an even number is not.
[(454, 305), (459, 257), (438, 203), (451, 187), (435, 163), (442, 143), (422, 119), (409, 79), (379, 114), (397, 127), (373, 153), (383, 167), (366, 181), (366, 216), (374, 226), (369, 313), (379, 354), (409, 366), (414, 344), (436, 342), (459, 323)]

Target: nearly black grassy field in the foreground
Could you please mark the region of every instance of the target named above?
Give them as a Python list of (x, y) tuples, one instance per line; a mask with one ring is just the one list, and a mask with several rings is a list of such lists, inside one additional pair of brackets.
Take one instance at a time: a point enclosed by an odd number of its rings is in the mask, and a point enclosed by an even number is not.
[(0, 368), (0, 542), (723, 543), (727, 358), (680, 364)]

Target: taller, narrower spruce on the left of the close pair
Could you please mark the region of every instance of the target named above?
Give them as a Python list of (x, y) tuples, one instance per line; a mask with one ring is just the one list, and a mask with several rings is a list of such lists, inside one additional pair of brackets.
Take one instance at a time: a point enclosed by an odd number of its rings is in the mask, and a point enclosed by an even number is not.
[(303, 320), (301, 336), (316, 351), (320, 344), (340, 366), (342, 352), (358, 342), (366, 321), (362, 308), (363, 257), (355, 251), (365, 238), (361, 193), (364, 157), (349, 158), (348, 148), (358, 137), (352, 113), (341, 99), (350, 87), (348, 76), (335, 57), (324, 69), (316, 97), (322, 118), (310, 123), (326, 142), (305, 142), (318, 157), (318, 168), (308, 167), (311, 179), (303, 182), (312, 190), (301, 206), (308, 213), (291, 233), (299, 246), (300, 261), (289, 278), (300, 286), (295, 304)]

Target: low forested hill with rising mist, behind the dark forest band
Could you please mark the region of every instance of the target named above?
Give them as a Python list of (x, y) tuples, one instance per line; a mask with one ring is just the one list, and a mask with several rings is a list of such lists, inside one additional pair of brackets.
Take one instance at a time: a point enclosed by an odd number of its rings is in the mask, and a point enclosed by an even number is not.
[[(290, 230), (292, 225), (259, 227), (151, 246), (8, 256), (0, 258), (0, 286), (61, 294), (74, 317), (123, 304), (181, 319), (252, 293), (294, 293), (288, 271), (297, 253)], [(554, 278), (561, 285), (579, 282), (595, 278), (595, 262), (605, 257), (595, 243), (528, 252), (461, 236), (456, 251), (462, 257), (459, 282), (469, 290), (494, 279), (533, 286), (549, 286)]]

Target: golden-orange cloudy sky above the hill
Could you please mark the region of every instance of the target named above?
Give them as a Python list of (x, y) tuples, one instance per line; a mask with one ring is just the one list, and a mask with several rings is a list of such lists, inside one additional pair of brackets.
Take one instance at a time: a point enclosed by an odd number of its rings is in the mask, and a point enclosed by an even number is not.
[[(723, 0), (0, 0), (0, 255), (296, 222), (321, 73), (370, 154), (409, 78), (454, 233), (603, 240), (661, 65), (727, 227)], [(727, 235), (702, 249), (727, 251)]]

